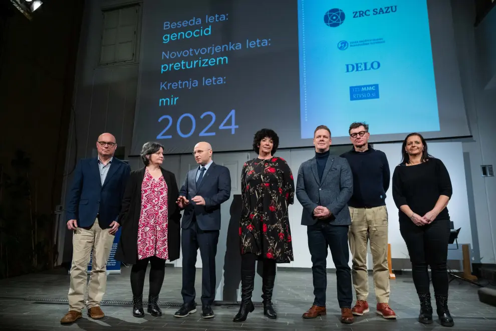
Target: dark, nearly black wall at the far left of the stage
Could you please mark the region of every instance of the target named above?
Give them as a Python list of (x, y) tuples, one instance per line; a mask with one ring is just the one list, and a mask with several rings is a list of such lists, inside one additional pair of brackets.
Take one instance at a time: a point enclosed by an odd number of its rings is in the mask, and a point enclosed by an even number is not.
[(0, 277), (53, 265), (84, 0), (0, 5)]

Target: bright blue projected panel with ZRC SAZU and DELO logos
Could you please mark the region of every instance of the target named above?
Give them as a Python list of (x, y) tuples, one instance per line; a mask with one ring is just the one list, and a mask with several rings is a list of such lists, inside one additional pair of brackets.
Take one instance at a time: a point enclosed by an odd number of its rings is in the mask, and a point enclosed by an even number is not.
[(439, 131), (427, 4), (396, 3), (299, 0), (302, 138), (359, 118), (374, 134)]

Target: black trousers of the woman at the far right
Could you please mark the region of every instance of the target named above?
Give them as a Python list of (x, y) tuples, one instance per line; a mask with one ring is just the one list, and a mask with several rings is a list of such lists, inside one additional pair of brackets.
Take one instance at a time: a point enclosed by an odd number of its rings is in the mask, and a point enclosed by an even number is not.
[(429, 293), (430, 265), (434, 293), (448, 295), (448, 258), (449, 219), (434, 220), (431, 224), (416, 226), (410, 220), (400, 221), (400, 233), (405, 240), (410, 261), (412, 277), (417, 293)]

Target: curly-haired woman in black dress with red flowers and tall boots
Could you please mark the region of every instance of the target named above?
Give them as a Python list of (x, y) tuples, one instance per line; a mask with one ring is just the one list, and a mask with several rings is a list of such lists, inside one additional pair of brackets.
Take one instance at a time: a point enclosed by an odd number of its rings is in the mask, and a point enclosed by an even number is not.
[(262, 129), (255, 134), (253, 148), (257, 158), (243, 165), (241, 173), (242, 210), (239, 226), (241, 245), (241, 306), (234, 321), (244, 321), (255, 308), (252, 291), (255, 262), (263, 261), (262, 298), (264, 314), (276, 318), (272, 292), (276, 263), (293, 261), (293, 246), (288, 207), (295, 197), (295, 182), (288, 163), (273, 156), (279, 137), (273, 130)]

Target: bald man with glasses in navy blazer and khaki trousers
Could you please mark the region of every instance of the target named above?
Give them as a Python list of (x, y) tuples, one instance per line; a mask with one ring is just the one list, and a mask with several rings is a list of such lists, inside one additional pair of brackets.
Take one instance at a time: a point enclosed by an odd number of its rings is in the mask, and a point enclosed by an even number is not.
[(101, 134), (96, 147), (98, 157), (81, 159), (76, 165), (66, 206), (67, 228), (74, 234), (69, 312), (61, 319), (62, 324), (82, 317), (92, 251), (86, 307), (88, 316), (94, 319), (105, 316), (100, 302), (107, 284), (107, 260), (119, 228), (117, 217), (131, 168), (113, 157), (117, 144), (112, 134)]

